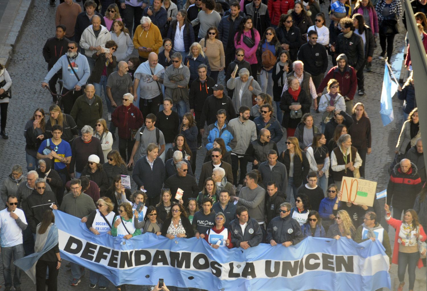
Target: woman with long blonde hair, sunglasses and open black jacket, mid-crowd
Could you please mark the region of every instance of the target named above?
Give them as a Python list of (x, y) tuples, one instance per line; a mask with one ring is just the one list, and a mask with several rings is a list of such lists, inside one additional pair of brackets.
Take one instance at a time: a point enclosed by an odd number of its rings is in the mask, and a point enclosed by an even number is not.
[(290, 202), (291, 190), (294, 198), (298, 193), (298, 187), (303, 182), (303, 177), (307, 177), (310, 171), (310, 164), (308, 163), (307, 156), (302, 152), (299, 147), (299, 142), (296, 137), (288, 137), (286, 141), (286, 151), (282, 151), (278, 159), (279, 162), (286, 166), (288, 174), (288, 184), (286, 187), (287, 198), (286, 202)]

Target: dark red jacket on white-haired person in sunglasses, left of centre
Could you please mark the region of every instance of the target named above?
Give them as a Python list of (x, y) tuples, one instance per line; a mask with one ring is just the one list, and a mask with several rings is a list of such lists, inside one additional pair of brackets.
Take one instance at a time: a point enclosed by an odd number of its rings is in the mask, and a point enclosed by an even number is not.
[(111, 121), (119, 131), (119, 137), (131, 138), (132, 130), (140, 128), (144, 124), (141, 111), (131, 104), (128, 108), (122, 105), (111, 114)]

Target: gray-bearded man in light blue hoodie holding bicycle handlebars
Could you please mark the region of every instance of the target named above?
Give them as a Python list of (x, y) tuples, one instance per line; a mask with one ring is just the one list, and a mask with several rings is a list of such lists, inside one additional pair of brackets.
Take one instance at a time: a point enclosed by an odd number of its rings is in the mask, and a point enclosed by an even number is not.
[(64, 80), (64, 88), (62, 94), (72, 91), (65, 96), (61, 101), (64, 105), (64, 113), (70, 114), (71, 108), (73, 108), (76, 99), (82, 95), (82, 86), (86, 84), (90, 76), (88, 59), (85, 55), (77, 52), (77, 43), (70, 41), (67, 46), (67, 53), (53, 65), (52, 69), (49, 70), (41, 87), (48, 87), (49, 80), (59, 70), (62, 70), (62, 79)]

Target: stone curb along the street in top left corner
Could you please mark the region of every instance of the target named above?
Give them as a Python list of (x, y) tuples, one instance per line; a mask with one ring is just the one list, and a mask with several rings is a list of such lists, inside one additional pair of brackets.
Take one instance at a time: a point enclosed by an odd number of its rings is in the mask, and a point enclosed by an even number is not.
[[(10, 59), (13, 55), (15, 45), (18, 43), (20, 38), (20, 32), (23, 24), (28, 16), (30, 7), (33, 6), (34, 0), (22, 0), (20, 7), (16, 12), (15, 18), (12, 22), (12, 26), (9, 29), (6, 42), (0, 45), (0, 63), (4, 64), (5, 67), (9, 66)], [(8, 11), (6, 10), (5, 13)]]

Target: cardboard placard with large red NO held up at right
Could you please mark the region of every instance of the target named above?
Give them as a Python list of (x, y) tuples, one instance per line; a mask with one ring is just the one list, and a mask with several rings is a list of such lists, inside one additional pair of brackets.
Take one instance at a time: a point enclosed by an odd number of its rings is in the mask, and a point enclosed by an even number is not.
[(373, 206), (376, 189), (377, 182), (352, 177), (342, 177), (341, 201)]

